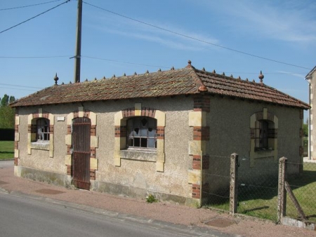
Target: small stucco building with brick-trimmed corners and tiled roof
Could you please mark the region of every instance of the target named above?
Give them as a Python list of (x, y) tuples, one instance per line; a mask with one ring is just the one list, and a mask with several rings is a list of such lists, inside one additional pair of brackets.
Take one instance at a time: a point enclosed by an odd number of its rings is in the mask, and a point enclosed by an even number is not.
[(259, 79), (206, 72), (190, 61), (183, 69), (67, 85), (55, 78), (55, 86), (11, 104), (15, 175), (202, 205), (210, 191), (228, 186), (207, 175), (230, 169), (218, 158), (249, 157), (244, 172), (258, 180), (272, 172), (263, 161), (303, 161), (308, 104)]

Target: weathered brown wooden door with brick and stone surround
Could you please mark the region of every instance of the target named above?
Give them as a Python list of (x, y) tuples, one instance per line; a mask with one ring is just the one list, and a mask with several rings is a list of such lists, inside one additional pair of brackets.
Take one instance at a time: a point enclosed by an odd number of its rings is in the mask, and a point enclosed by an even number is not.
[(74, 186), (90, 189), (90, 118), (72, 121), (72, 176)]

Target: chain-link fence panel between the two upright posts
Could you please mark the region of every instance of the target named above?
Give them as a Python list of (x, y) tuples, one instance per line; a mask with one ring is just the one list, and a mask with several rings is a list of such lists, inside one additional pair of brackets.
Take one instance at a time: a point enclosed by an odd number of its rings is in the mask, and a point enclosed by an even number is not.
[(273, 157), (239, 156), (237, 212), (277, 221), (278, 163)]

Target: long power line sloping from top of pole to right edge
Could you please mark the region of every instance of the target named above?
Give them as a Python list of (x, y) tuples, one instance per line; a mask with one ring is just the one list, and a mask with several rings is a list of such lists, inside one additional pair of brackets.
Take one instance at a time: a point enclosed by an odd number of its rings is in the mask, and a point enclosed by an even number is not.
[(299, 68), (311, 70), (311, 69), (308, 68), (308, 67), (302, 67), (302, 66), (294, 65), (294, 64), (291, 64), (291, 63), (287, 63), (287, 62), (282, 62), (282, 61), (279, 61), (279, 60), (273, 60), (273, 59), (270, 59), (270, 58), (268, 58), (268, 57), (262, 57), (262, 56), (259, 56), (259, 55), (254, 55), (254, 54), (252, 54), (252, 53), (246, 53), (246, 52), (243, 52), (243, 51), (241, 51), (241, 50), (236, 50), (236, 49), (234, 49), (234, 48), (228, 48), (228, 47), (225, 47), (225, 46), (220, 46), (219, 44), (216, 44), (216, 43), (211, 43), (211, 42), (209, 42), (209, 41), (204, 41), (204, 40), (202, 40), (202, 39), (197, 39), (197, 38), (192, 37), (192, 36), (187, 36), (186, 34), (181, 34), (181, 33), (178, 33), (178, 32), (174, 32), (174, 31), (172, 31), (172, 30), (170, 30), (170, 29), (166, 29), (166, 28), (163, 28), (163, 27), (159, 27), (159, 26), (157, 26), (157, 25), (152, 25), (152, 24), (150, 24), (150, 23), (143, 22), (143, 21), (141, 21), (141, 20), (136, 20), (136, 19), (130, 18), (130, 17), (126, 16), (126, 15), (121, 15), (121, 14), (119, 14), (119, 13), (115, 13), (114, 11), (110, 11), (110, 10), (107, 10), (107, 9), (105, 9), (105, 8), (101, 8), (100, 6), (95, 6), (95, 5), (93, 5), (93, 4), (88, 4), (88, 3), (86, 3), (85, 1), (83, 1), (83, 2), (84, 2), (84, 4), (87, 4), (87, 5), (89, 5), (89, 6), (93, 6), (94, 8), (98, 8), (98, 9), (103, 10), (103, 11), (107, 11), (108, 13), (112, 13), (112, 14), (114, 14), (114, 15), (118, 15), (118, 16), (120, 16), (120, 17), (122, 17), (122, 18), (126, 18), (126, 19), (129, 19), (129, 20), (133, 20), (133, 21), (138, 22), (138, 23), (141, 23), (141, 24), (143, 24), (143, 25), (148, 25), (148, 26), (150, 26), (150, 27), (154, 27), (154, 28), (157, 28), (157, 29), (161, 29), (161, 30), (163, 30), (163, 31), (165, 31), (165, 32), (169, 32), (169, 33), (172, 33), (172, 34), (176, 34), (176, 35), (178, 35), (178, 36), (183, 36), (183, 37), (185, 37), (185, 38), (187, 38), (187, 39), (192, 39), (192, 40), (199, 41), (199, 42), (202, 42), (202, 43), (206, 43), (206, 44), (209, 44), (209, 45), (212, 45), (212, 46), (216, 46), (216, 47), (219, 47), (219, 48), (224, 48), (224, 49), (226, 49), (226, 50), (230, 50), (230, 51), (233, 51), (233, 52), (235, 52), (235, 53), (242, 53), (242, 54), (244, 54), (244, 55), (248, 55), (248, 56), (251, 56), (251, 57), (257, 57), (257, 58), (260, 58), (260, 59), (263, 59), (263, 60), (268, 60), (268, 61), (271, 61), (271, 62), (277, 62), (277, 63), (283, 64), (283, 65), (289, 65), (289, 66), (292, 66), (292, 67), (299, 67)]

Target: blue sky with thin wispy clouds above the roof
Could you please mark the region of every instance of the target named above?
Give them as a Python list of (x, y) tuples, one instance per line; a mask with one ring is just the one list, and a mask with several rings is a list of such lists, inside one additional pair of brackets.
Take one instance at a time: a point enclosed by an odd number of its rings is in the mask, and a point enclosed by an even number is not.
[[(0, 0), (0, 97), (53, 86), (56, 73), (58, 84), (73, 83), (77, 4)], [(315, 0), (84, 0), (81, 81), (191, 60), (257, 82), (262, 71), (263, 83), (308, 103), (315, 12)]]

